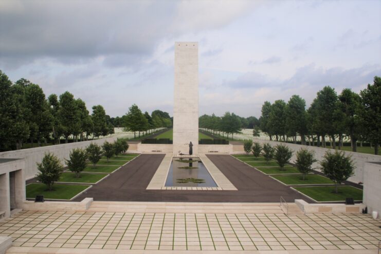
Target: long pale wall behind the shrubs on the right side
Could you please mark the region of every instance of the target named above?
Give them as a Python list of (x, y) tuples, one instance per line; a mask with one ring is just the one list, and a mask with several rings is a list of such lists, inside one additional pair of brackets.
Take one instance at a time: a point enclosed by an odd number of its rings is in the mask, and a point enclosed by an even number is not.
[[(276, 146), (277, 144), (284, 144), (290, 149), (293, 150), (293, 157), (291, 158), (291, 162), (294, 162), (296, 160), (296, 152), (299, 151), (301, 148), (306, 148), (308, 150), (312, 150), (315, 152), (315, 158), (318, 160), (315, 162), (312, 166), (315, 170), (320, 170), (320, 161), (322, 160), (324, 154), (326, 151), (331, 150), (335, 151), (333, 149), (329, 148), (321, 148), (321, 147), (310, 147), (310, 146), (302, 146), (301, 144), (293, 144), (293, 143), (284, 143), (284, 142), (277, 142), (277, 141), (269, 141), (269, 140), (262, 140), (262, 139), (254, 139), (254, 142), (259, 142), (261, 144), (263, 143), (269, 143), (271, 146)], [(381, 162), (381, 156), (379, 155), (372, 155), (372, 154), (366, 154), (366, 153), (354, 153), (354, 152), (348, 152), (343, 151), (347, 156), (351, 156), (354, 164), (356, 166), (355, 174), (348, 178), (348, 180), (352, 183), (364, 183), (364, 168), (365, 163), (372, 161), (372, 162)]]

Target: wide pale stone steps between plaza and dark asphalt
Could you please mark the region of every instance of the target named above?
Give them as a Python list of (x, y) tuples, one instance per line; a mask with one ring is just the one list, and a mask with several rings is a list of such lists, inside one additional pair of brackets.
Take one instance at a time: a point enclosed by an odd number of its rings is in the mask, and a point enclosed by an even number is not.
[[(94, 201), (88, 211), (147, 213), (284, 213), (279, 203), (180, 203), (180, 202), (106, 202)], [(289, 204), (289, 214), (303, 214)]]

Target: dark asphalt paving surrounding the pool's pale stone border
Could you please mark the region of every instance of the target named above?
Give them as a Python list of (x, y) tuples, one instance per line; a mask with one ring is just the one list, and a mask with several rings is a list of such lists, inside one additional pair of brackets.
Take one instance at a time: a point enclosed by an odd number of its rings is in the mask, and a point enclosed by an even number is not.
[(164, 154), (141, 154), (74, 201), (287, 202), (310, 199), (230, 155), (208, 155), (238, 191), (146, 190)]

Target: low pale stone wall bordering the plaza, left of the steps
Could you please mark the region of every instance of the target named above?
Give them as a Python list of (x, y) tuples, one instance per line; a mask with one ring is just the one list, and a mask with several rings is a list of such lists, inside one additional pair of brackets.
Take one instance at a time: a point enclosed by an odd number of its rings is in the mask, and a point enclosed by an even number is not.
[(81, 202), (66, 202), (66, 201), (45, 201), (43, 203), (25, 201), (22, 204), (24, 210), (45, 210), (45, 211), (85, 211), (93, 203), (92, 197), (86, 197)]

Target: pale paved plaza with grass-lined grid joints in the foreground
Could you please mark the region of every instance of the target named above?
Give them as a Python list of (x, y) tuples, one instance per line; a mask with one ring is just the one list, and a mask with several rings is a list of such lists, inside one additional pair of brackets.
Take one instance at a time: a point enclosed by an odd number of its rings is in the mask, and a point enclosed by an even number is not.
[[(22, 211), (0, 223), (17, 251), (374, 250), (380, 221), (366, 214)], [(26, 248), (18, 248), (22, 246)], [(31, 248), (32, 247), (32, 248)], [(76, 251), (75, 253), (79, 253)], [(146, 252), (144, 252), (146, 253)], [(147, 252), (149, 253), (149, 252)], [(364, 253), (364, 252), (362, 252)], [(369, 252), (372, 253), (372, 252)]]

